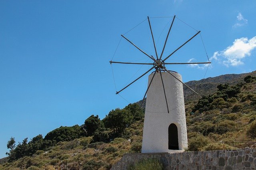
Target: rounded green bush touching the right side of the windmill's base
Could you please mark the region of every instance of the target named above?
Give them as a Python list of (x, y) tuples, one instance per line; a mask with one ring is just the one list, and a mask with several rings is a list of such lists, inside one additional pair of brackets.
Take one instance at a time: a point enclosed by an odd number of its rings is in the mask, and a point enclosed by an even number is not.
[(188, 150), (189, 151), (200, 151), (208, 143), (209, 143), (208, 138), (206, 138), (204, 136), (197, 136), (195, 138), (191, 138), (188, 142)]

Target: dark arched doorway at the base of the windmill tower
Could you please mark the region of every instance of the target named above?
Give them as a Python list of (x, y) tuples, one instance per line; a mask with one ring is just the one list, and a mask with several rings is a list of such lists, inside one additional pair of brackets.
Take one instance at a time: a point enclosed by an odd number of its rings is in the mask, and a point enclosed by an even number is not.
[(174, 123), (168, 128), (168, 149), (179, 150), (178, 128)]

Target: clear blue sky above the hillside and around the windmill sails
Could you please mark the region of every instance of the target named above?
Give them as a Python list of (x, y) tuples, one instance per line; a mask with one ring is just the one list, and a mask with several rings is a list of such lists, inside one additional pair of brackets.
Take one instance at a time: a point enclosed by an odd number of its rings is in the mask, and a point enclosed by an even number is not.
[[(82, 125), (90, 115), (101, 119), (112, 109), (143, 98), (147, 75), (120, 95), (117, 89), (144, 73), (148, 66), (118, 65), (112, 59), (120, 34), (150, 16), (158, 53), (174, 14), (200, 30), (212, 64), (182, 65), (183, 81), (256, 70), (256, 1), (0, 1), (0, 157), (16, 142), (60, 126)], [(163, 57), (196, 34), (177, 18)], [(161, 34), (162, 33), (162, 34)], [(147, 20), (125, 34), (154, 55)], [(204, 62), (196, 36), (169, 62)], [(148, 62), (123, 38), (113, 61)], [(150, 61), (151, 62), (151, 61)], [(141, 67), (141, 68), (140, 68)]]

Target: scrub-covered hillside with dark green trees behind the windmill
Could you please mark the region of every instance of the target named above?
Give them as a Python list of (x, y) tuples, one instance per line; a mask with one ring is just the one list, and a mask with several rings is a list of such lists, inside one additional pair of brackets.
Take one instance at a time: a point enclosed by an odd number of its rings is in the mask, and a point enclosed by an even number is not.
[[(226, 141), (255, 140), (254, 74), (243, 74), (235, 83), (214, 83), (216, 87), (206, 89), (200, 99), (186, 98), (187, 150), (233, 149)], [(202, 80), (197, 85), (202, 91)], [(109, 169), (124, 153), (141, 152), (143, 122), (144, 109), (133, 103), (110, 111), (102, 120), (91, 115), (84, 125), (56, 128), (44, 138), (39, 134), (16, 145), (11, 137), (0, 169)]]

